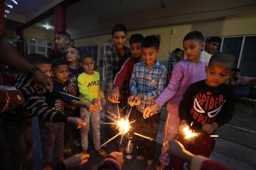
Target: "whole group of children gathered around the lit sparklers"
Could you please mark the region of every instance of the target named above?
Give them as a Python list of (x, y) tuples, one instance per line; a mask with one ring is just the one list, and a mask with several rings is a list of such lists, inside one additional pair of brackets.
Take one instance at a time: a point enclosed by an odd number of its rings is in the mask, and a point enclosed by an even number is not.
[[(127, 30), (117, 24), (112, 28), (114, 45), (104, 54), (105, 88), (101, 91), (100, 76), (94, 71), (94, 58), (88, 52), (70, 46), (70, 36), (58, 32), (55, 43), (60, 51), (50, 59), (39, 55), (28, 57), (37, 69), (54, 78), (53, 92), (47, 92), (46, 101), (41, 100), (42, 89), (28, 76), (16, 78), (15, 87), (25, 95), (26, 104), (1, 115), (4, 135), (11, 148), (12, 169), (32, 166), (31, 118), (39, 118), (45, 168), (52, 166), (52, 152), (55, 148), (57, 161), (65, 159), (63, 154), (72, 154), (72, 142), (87, 154), (89, 122), (92, 121), (94, 148), (101, 156), (106, 152), (100, 148), (100, 113), (115, 113), (119, 103), (121, 116), (126, 114), (127, 104), (132, 108), (131, 119), (136, 119), (134, 132), (156, 139), (161, 107), (167, 103), (168, 115), (164, 126), (164, 141), (177, 139), (193, 154), (208, 157), (215, 140), (209, 135), (232, 118), (234, 108), (233, 91), (224, 83), (233, 74), (234, 57), (226, 53), (211, 56), (209, 63), (200, 61), (205, 47), (203, 35), (198, 31), (188, 33), (183, 39), (187, 59), (177, 62), (172, 76), (165, 87), (167, 69), (157, 61), (160, 41), (155, 36), (130, 37), (126, 47)], [(75, 100), (69, 93), (81, 100)], [(76, 107), (80, 107), (77, 110)], [(66, 110), (66, 109), (67, 110)], [(124, 109), (122, 109), (124, 108)], [(63, 113), (63, 114), (62, 114)], [(80, 118), (76, 117), (80, 113)], [(69, 117), (68, 117), (69, 116)], [(111, 116), (111, 115), (109, 115)], [(106, 118), (105, 122), (111, 122)], [(65, 125), (66, 123), (66, 125)], [(81, 143), (78, 132), (67, 124), (81, 128)], [(193, 126), (188, 126), (193, 123)], [(184, 141), (180, 128), (188, 126), (200, 131), (193, 142)], [(66, 129), (66, 130), (65, 130)], [(107, 136), (113, 137), (115, 128), (106, 126)], [(119, 141), (117, 140), (116, 143)], [(206, 144), (204, 144), (206, 143)], [(154, 169), (153, 159), (156, 141), (138, 137), (138, 154), (132, 169)], [(119, 146), (119, 151), (122, 151)], [(145, 152), (147, 153), (146, 155)], [(147, 161), (144, 161), (145, 158)], [(163, 148), (157, 170), (169, 164), (169, 154)], [(145, 163), (144, 163), (145, 162)], [(174, 169), (180, 169), (184, 162), (174, 158)]]

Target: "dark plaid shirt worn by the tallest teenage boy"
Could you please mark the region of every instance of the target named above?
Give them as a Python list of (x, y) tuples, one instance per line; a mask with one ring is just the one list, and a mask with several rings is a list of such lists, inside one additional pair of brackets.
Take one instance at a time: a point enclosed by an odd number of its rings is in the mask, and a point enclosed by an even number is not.
[[(106, 53), (104, 54), (104, 65), (105, 65), (105, 78), (106, 84), (104, 89), (104, 95), (108, 98), (111, 90), (109, 89), (109, 82), (114, 82), (114, 78), (117, 75), (117, 72), (121, 69), (123, 63), (132, 56), (131, 49), (124, 46), (125, 53), (123, 56), (119, 53), (115, 45), (113, 45)], [(126, 100), (129, 97), (129, 80), (126, 78), (120, 89), (121, 99)]]

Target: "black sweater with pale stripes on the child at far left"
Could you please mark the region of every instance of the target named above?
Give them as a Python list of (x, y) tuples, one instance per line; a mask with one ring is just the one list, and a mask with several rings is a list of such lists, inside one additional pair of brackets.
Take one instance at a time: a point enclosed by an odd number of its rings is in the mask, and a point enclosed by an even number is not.
[(22, 122), (36, 116), (38, 119), (47, 122), (67, 122), (67, 116), (63, 115), (60, 111), (52, 110), (41, 100), (42, 88), (32, 79), (22, 75), (17, 76), (15, 81), (15, 87), (22, 92), (26, 103), (1, 114), (1, 119), (8, 122)]

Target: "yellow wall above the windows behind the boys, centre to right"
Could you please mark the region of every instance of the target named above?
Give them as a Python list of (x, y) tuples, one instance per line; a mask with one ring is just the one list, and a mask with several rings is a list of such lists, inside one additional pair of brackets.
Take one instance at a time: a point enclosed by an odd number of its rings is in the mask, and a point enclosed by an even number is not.
[[(172, 34), (173, 29), (175, 30), (175, 34)], [(136, 30), (128, 32), (127, 36), (130, 37), (132, 34), (136, 33), (140, 33), (143, 36), (158, 35), (161, 33), (161, 53), (158, 60), (164, 61), (167, 60), (169, 53), (174, 51), (175, 48), (183, 48), (182, 40), (184, 36), (190, 31), (200, 31), (202, 32), (204, 37), (256, 34), (256, 16), (250, 18), (235, 18), (229, 20), (222, 20), (219, 22), (197, 23), (194, 25), (181, 25), (173, 27)], [(75, 39), (75, 45), (98, 45), (99, 61), (100, 48), (104, 46), (104, 43), (108, 43), (109, 39), (111, 39), (111, 34), (97, 37)], [(127, 43), (127, 46), (130, 46), (129, 43)]]

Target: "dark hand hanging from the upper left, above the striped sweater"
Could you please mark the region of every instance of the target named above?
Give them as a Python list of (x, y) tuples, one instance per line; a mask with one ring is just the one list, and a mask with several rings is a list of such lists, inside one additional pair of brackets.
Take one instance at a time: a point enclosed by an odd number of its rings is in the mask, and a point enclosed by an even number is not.
[(52, 78), (48, 77), (44, 72), (41, 72), (39, 70), (34, 71), (32, 75), (32, 79), (40, 85), (43, 85), (47, 90), (52, 92), (53, 83)]

